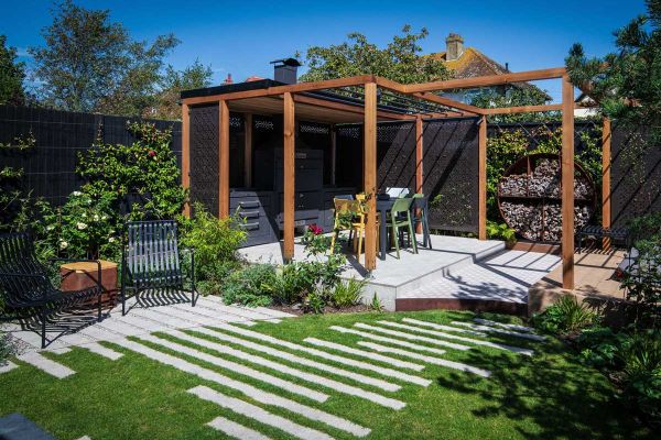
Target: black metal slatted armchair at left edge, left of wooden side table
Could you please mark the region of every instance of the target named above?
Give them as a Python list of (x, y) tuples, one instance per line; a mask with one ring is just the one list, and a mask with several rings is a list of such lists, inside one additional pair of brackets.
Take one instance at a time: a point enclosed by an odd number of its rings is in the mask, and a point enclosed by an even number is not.
[(4, 300), (4, 318), (21, 319), (34, 315), (41, 320), (42, 349), (46, 346), (46, 321), (50, 316), (97, 298), (101, 320), (101, 263), (96, 260), (55, 258), (52, 262), (93, 262), (98, 265), (97, 283), (83, 290), (62, 292), (51, 283), (46, 267), (34, 254), (28, 233), (0, 235), (0, 295)]

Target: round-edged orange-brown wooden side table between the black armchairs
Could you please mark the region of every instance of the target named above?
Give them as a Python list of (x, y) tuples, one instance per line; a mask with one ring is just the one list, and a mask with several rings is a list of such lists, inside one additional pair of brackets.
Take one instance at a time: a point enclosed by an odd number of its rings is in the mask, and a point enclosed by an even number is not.
[[(101, 301), (104, 305), (113, 307), (117, 302), (117, 264), (99, 260), (101, 263), (101, 286), (104, 295)], [(91, 262), (66, 263), (59, 266), (62, 276), (62, 292), (83, 290), (94, 287), (97, 284), (98, 265)], [(96, 299), (84, 302), (85, 306), (95, 306)]]

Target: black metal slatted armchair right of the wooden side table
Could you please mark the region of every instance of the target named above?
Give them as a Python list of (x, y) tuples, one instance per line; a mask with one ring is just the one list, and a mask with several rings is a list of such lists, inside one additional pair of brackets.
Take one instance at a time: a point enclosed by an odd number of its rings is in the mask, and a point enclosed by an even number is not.
[(197, 294), (195, 255), (193, 250), (188, 250), (191, 272), (187, 278), (191, 288), (186, 289), (176, 222), (174, 220), (130, 221), (127, 223), (124, 237), (121, 258), (121, 314), (127, 312), (126, 300), (129, 290), (138, 300), (143, 292), (189, 293), (191, 304), (194, 307)]

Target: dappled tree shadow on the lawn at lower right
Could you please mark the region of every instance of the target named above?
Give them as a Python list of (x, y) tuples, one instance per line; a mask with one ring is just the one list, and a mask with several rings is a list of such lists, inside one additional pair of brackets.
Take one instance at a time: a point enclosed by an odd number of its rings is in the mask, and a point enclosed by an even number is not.
[(546, 343), (545, 352), (532, 359), (512, 360), (509, 353), (486, 355), (472, 350), (464, 362), (490, 370), (491, 377), (467, 382), (465, 376), (453, 374), (437, 382), (445, 388), (479, 396), (484, 404), (473, 409), (476, 417), (505, 416), (534, 422), (539, 430), (517, 428), (527, 439), (652, 437), (635, 425), (606, 377), (582, 366), (554, 344), (557, 342)]

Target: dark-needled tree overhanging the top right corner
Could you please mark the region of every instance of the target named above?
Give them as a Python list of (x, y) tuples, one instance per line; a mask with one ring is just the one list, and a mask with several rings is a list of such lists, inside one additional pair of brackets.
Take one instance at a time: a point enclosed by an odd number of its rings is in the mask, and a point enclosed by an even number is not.
[(585, 55), (576, 43), (565, 59), (572, 82), (599, 103), (605, 116), (629, 127), (647, 125), (661, 140), (661, 0), (615, 32), (617, 52)]

